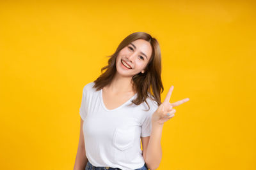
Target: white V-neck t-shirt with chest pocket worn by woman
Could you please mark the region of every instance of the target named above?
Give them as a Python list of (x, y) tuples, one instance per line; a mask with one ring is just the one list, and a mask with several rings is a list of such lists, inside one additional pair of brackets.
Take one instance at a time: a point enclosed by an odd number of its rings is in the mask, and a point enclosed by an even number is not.
[[(108, 110), (102, 101), (102, 90), (90, 82), (83, 88), (79, 114), (84, 120), (83, 133), (86, 157), (93, 166), (118, 167), (130, 170), (142, 167), (145, 161), (140, 148), (140, 137), (150, 136), (151, 117), (158, 108), (156, 101), (147, 97), (140, 105), (133, 104), (137, 94), (124, 104)], [(130, 106), (127, 106), (131, 104)]]

